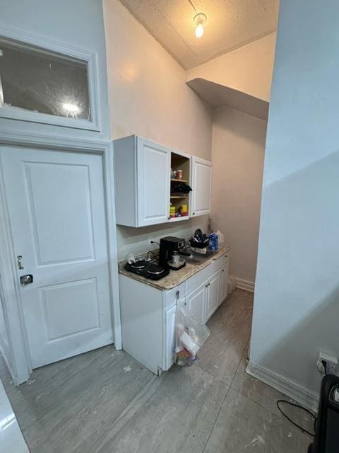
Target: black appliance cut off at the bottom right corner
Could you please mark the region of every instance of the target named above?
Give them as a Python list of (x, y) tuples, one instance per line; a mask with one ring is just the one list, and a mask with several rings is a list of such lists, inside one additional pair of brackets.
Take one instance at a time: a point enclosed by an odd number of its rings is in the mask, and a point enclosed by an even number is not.
[(339, 452), (339, 377), (326, 374), (321, 381), (314, 442), (308, 453)]

